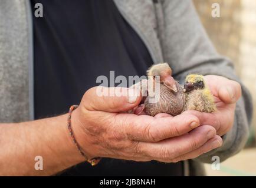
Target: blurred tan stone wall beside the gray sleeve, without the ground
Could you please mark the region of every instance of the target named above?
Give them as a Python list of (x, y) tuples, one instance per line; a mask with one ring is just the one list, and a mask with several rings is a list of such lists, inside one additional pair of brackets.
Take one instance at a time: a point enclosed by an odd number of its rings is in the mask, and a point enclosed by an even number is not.
[[(209, 38), (222, 55), (228, 56), (242, 82), (251, 91), (256, 109), (256, 1), (193, 0)], [(220, 17), (212, 17), (212, 4), (220, 6)], [(252, 134), (256, 137), (256, 110)], [(254, 132), (253, 132), (254, 131)]]

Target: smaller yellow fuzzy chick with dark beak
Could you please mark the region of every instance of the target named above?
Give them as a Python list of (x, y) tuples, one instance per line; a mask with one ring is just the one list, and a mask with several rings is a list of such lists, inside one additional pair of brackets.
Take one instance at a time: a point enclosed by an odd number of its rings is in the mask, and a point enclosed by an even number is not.
[(184, 111), (198, 110), (208, 113), (216, 111), (214, 97), (206, 85), (203, 75), (186, 76), (183, 92), (186, 93)]

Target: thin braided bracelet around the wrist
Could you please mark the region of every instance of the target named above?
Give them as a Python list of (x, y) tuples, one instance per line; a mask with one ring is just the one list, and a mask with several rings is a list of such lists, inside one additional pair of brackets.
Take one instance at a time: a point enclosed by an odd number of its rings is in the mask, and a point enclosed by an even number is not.
[(77, 147), (77, 150), (80, 152), (80, 154), (86, 159), (88, 163), (91, 164), (91, 166), (94, 166), (100, 162), (101, 157), (95, 157), (93, 159), (87, 159), (86, 155), (84, 154), (81, 147), (78, 145), (76, 138), (74, 137), (74, 133), (71, 127), (71, 113), (78, 107), (78, 105), (72, 105), (70, 106), (70, 110), (68, 111), (68, 131), (70, 132), (70, 136), (74, 142), (74, 144)]

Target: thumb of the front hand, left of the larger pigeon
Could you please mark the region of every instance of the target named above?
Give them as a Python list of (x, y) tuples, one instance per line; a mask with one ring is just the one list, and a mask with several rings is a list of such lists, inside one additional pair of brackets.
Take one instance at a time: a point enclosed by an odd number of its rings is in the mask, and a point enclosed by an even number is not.
[(82, 101), (87, 110), (123, 112), (139, 105), (141, 99), (140, 92), (136, 89), (97, 86), (87, 90)]

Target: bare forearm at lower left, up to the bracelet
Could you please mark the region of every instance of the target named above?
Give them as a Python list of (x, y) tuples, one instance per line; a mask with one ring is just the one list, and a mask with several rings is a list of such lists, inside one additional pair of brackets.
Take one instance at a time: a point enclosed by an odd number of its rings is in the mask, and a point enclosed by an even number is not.
[[(51, 175), (83, 162), (67, 129), (67, 115), (0, 124), (0, 175)], [(43, 170), (35, 170), (42, 156)]]

